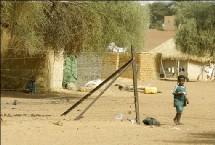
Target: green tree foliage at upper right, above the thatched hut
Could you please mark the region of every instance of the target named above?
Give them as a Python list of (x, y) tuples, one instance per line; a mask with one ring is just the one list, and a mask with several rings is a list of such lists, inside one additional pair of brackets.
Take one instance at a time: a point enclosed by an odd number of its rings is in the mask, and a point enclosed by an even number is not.
[(177, 48), (187, 54), (215, 56), (215, 5), (208, 2), (178, 2)]

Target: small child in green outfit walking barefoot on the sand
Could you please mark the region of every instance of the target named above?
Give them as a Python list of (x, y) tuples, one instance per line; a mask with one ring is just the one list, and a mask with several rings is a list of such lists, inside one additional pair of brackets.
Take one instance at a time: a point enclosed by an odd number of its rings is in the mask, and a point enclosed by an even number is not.
[(173, 119), (176, 125), (183, 125), (180, 122), (181, 114), (183, 112), (184, 106), (186, 104), (189, 104), (189, 101), (187, 99), (187, 90), (186, 86), (184, 86), (185, 77), (183, 75), (178, 76), (178, 84), (173, 89), (172, 94), (174, 95), (174, 107), (176, 107), (176, 115)]

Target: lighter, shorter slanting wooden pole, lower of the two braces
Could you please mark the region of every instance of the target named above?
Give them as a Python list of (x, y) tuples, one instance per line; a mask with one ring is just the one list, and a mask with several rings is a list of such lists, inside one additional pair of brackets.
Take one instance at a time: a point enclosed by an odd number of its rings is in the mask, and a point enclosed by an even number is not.
[(127, 64), (125, 68), (120, 69), (119, 74), (117, 74), (111, 82), (105, 87), (105, 89), (96, 97), (93, 99), (93, 101), (74, 119), (79, 120), (83, 114), (101, 97), (101, 95), (117, 80), (117, 78), (132, 64), (132, 61), (129, 61), (130, 63)]

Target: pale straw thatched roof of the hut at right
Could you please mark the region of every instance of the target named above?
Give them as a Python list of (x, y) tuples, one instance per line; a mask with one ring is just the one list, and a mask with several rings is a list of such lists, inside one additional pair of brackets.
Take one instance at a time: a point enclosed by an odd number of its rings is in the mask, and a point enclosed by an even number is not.
[(162, 43), (158, 47), (155, 47), (150, 52), (152, 53), (161, 53), (163, 60), (194, 60), (198, 62), (207, 62), (209, 57), (197, 57), (193, 55), (184, 54), (180, 50), (176, 49), (176, 44), (174, 39), (169, 39), (166, 42)]

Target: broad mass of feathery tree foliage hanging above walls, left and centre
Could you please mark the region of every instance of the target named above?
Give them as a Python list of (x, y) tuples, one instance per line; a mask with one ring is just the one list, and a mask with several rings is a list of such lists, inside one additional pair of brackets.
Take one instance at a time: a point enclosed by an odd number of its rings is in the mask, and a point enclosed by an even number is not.
[(38, 49), (103, 52), (109, 43), (141, 50), (149, 10), (137, 2), (5, 2), (3, 19), (11, 26), (11, 45)]

